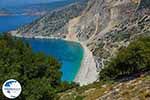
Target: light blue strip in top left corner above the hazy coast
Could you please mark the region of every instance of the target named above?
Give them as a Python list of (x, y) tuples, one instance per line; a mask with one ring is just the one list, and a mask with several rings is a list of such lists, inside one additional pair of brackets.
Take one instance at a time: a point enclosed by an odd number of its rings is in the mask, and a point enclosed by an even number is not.
[(63, 1), (63, 0), (0, 0), (0, 7), (49, 3), (54, 1)]

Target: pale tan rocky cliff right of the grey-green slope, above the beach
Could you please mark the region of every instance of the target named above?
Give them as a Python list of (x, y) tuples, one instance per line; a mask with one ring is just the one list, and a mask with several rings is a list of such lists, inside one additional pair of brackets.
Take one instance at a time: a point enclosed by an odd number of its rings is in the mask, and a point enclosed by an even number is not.
[(70, 20), (67, 35), (75, 34), (93, 52), (97, 67), (104, 67), (119, 48), (149, 35), (149, 6), (148, 0), (90, 0), (82, 15)]

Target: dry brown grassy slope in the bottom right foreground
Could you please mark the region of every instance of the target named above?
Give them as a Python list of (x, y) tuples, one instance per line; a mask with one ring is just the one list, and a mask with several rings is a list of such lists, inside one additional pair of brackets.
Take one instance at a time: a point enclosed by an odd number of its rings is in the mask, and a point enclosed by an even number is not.
[(55, 100), (149, 100), (150, 72), (124, 82), (93, 83), (59, 93)]

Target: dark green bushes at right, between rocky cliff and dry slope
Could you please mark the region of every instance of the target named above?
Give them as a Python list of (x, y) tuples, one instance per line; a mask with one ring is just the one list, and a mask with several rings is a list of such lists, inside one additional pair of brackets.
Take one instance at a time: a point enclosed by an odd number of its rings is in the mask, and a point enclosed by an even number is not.
[(100, 80), (111, 80), (122, 75), (129, 75), (150, 69), (150, 37), (142, 37), (123, 48), (101, 70)]

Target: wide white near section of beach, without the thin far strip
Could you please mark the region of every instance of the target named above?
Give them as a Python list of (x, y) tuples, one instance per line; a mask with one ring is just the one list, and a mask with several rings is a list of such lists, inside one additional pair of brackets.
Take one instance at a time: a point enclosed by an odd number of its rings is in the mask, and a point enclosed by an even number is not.
[(84, 54), (80, 69), (74, 79), (74, 82), (80, 83), (80, 86), (83, 86), (95, 82), (98, 79), (98, 72), (92, 52), (84, 43), (81, 43), (81, 45), (83, 47)]

